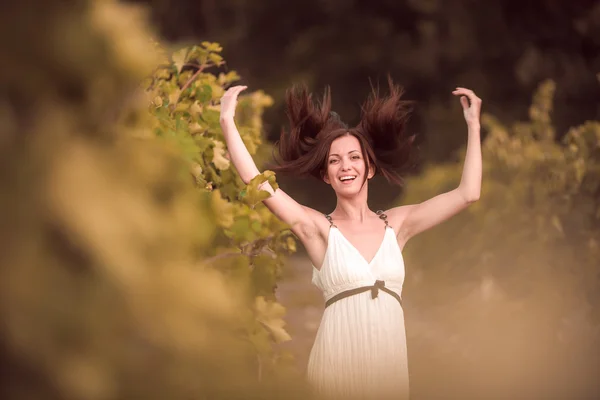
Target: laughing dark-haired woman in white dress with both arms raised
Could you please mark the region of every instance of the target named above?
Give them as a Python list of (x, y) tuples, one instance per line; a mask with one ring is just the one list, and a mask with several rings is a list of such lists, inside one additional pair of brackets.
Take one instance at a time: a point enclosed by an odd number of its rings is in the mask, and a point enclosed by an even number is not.
[[(246, 150), (233, 117), (245, 86), (229, 89), (221, 100), (221, 126), (231, 160), (242, 180), (259, 171)], [(307, 377), (324, 397), (408, 399), (406, 335), (401, 293), (402, 248), (479, 198), (481, 100), (465, 88), (460, 96), (468, 144), (458, 187), (420, 204), (373, 212), (367, 204), (369, 180), (377, 173), (400, 183), (412, 137), (406, 135), (408, 103), (390, 81), (390, 93), (373, 93), (361, 122), (347, 127), (331, 112), (327, 92), (315, 103), (305, 88), (287, 94), (290, 131), (279, 141), (280, 172), (313, 175), (331, 185), (333, 212), (323, 215), (298, 204), (267, 183), (265, 205), (290, 225), (313, 264), (313, 283), (326, 308), (313, 345)]]

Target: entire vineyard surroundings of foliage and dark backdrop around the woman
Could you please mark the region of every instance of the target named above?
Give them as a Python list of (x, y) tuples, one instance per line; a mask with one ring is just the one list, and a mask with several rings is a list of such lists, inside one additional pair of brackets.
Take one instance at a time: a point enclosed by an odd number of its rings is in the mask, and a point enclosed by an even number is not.
[[(166, 59), (150, 38), (222, 52)], [(215, 105), (249, 86), (238, 122), (266, 167), (292, 84), (330, 86), (355, 124), (388, 74), (419, 161), (374, 180), (372, 209), (454, 188), (451, 91), (484, 111), (480, 201), (403, 252), (412, 398), (600, 398), (599, 2), (22, 0), (0, 46), (0, 398), (312, 398), (323, 299), (230, 168)]]

